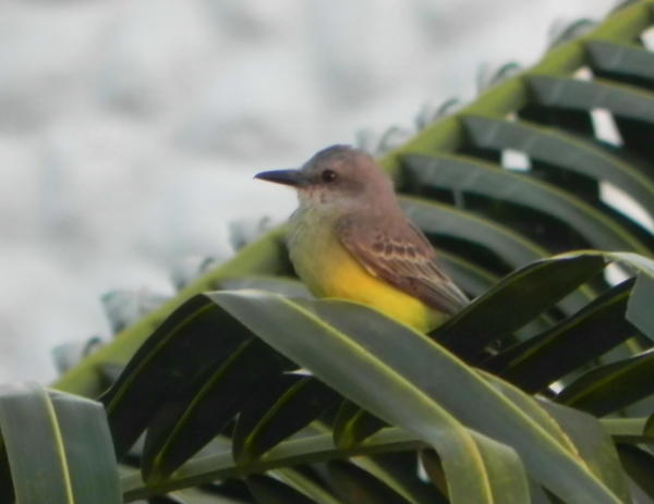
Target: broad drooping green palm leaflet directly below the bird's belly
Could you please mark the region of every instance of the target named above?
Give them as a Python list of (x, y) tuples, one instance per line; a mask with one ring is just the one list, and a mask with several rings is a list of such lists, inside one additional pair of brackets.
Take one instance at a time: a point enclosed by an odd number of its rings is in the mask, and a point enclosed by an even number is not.
[[(434, 443), (438, 450), (446, 474), (448, 472), (447, 456), (451, 448), (443, 444), (444, 434), (445, 432), (456, 432), (456, 423), (446, 420), (447, 417), (433, 409), (435, 403), (426, 402), (427, 397), (432, 396), (437, 397), (438, 405), (446, 407), (469, 425), (480, 428), (495, 438), (511, 440), (511, 444), (521, 454), (532, 474), (543, 479), (545, 484), (569, 502), (588, 502), (591, 494), (594, 495), (593, 499), (596, 502), (615, 502), (615, 496), (609, 496), (610, 492), (590, 472), (586, 472), (588, 469), (577, 462), (570, 452), (561, 447), (544, 431), (534, 430), (533, 420), (524, 413), (501, 395), (493, 393), (492, 388), (485, 384), (481, 378), (470, 373), (458, 359), (438, 348), (433, 342), (380, 314), (344, 302), (298, 300), (291, 303), (288, 299), (264, 293), (247, 295), (245, 293), (215, 293), (210, 296), (232, 316), (249, 324), (253, 332), (265, 339), (270, 345), (284, 352), (299, 364), (308, 367), (318, 378), (356, 401), (362, 407), (387, 421), (421, 432), (421, 437), (424, 437), (429, 443)], [(281, 328), (272, 325), (272, 321), (279, 318), (282, 310), (286, 323), (293, 324), (295, 331), (283, 331), (280, 330)], [(256, 317), (253, 317), (253, 311), (257, 314)], [(247, 320), (244, 320), (245, 318)], [(320, 319), (334, 325), (327, 325)], [(312, 333), (313, 336), (311, 339), (296, 337), (306, 333)], [(398, 346), (397, 341), (400, 339), (402, 345)], [(315, 352), (316, 347), (320, 348), (319, 353)], [(329, 356), (338, 356), (338, 358), (329, 358)], [(382, 362), (384, 362), (383, 367), (378, 367)], [(396, 373), (398, 377), (402, 377), (401, 381), (397, 381)], [(457, 383), (457, 390), (447, 386), (449, 383)], [(371, 386), (378, 390), (378, 393), (374, 393)], [(414, 386), (421, 391), (420, 396), (414, 396), (411, 392)], [(465, 390), (464, 388), (468, 386), (471, 389)], [(390, 401), (390, 397), (396, 394), (398, 394), (398, 399)], [(467, 399), (470, 396), (476, 397), (474, 405)], [(414, 402), (414, 397), (417, 402)], [(400, 407), (399, 402), (404, 406)], [(425, 407), (427, 409), (424, 409), (424, 413), (419, 413)], [(479, 416), (480, 408), (485, 411), (483, 421)], [(411, 414), (405, 415), (405, 410), (410, 410)], [(420, 418), (424, 418), (424, 420), (420, 420)], [(427, 421), (426, 418), (429, 420)], [(436, 419), (446, 421), (449, 427), (441, 430), (437, 427)], [(423, 421), (427, 423), (422, 423)], [(427, 426), (426, 431), (423, 431), (423, 427)], [(437, 435), (435, 435), (436, 432), (438, 432)], [(484, 443), (480, 453), (486, 467), (485, 470), (494, 472), (495, 464), (500, 463), (497, 448), (500, 448), (501, 445), (488, 444), (491, 440), (484, 437), (474, 435), (474, 440), (475, 443)], [(535, 445), (541, 448), (534, 450)], [(495, 446), (495, 450), (492, 446)], [(464, 454), (459, 450), (456, 453), (458, 457)], [(493, 455), (491, 455), (492, 453)], [(505, 455), (509, 455), (509, 452), (505, 452)], [(491, 462), (494, 467), (486, 466)], [(458, 465), (461, 465), (460, 458)], [(472, 467), (474, 466), (471, 465), (467, 468), (469, 474)], [(507, 459), (502, 463), (501, 469), (497, 468), (497, 470), (506, 471), (509, 467), (511, 467), (511, 463)], [(513, 465), (512, 470), (516, 470), (517, 467), (519, 466)], [(547, 469), (545, 470), (544, 467)], [(476, 481), (480, 481), (479, 477), (475, 478)], [(484, 480), (491, 484), (497, 482), (502, 487), (507, 485), (504, 487), (504, 491), (508, 495), (518, 495), (509, 492), (509, 488), (512, 491), (521, 488), (521, 493), (526, 491), (525, 485), (518, 487), (519, 481), (525, 482), (523, 479), (508, 482), (487, 478), (488, 475), (484, 477)], [(568, 482), (571, 481), (574, 483), (569, 484)], [(460, 488), (455, 491), (452, 484), (460, 482), (462, 480), (459, 478), (450, 479), (448, 476), (449, 492), (453, 500), (455, 495), (458, 495), (458, 491), (462, 492), (461, 496), (470, 496), (471, 481), (467, 481), (465, 489)], [(583, 484), (584, 490), (580, 483)], [(582, 495), (583, 501), (580, 500)], [(467, 502), (470, 500), (468, 499)]]

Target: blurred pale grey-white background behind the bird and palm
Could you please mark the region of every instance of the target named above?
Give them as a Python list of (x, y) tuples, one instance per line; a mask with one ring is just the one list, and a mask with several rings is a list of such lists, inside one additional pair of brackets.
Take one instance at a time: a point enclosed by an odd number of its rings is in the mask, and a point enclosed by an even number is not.
[(102, 293), (171, 294), (175, 265), (232, 254), (229, 222), (284, 219), (294, 196), (256, 172), (410, 128), (614, 4), (0, 1), (0, 382), (108, 337)]

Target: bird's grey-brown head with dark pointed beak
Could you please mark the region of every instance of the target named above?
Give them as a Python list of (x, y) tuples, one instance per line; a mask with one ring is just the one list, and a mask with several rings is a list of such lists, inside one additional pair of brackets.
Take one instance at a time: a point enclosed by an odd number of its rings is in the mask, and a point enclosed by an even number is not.
[(299, 170), (262, 172), (255, 177), (293, 186), (301, 207), (350, 211), (397, 205), (390, 179), (375, 160), (346, 145), (320, 150)]

